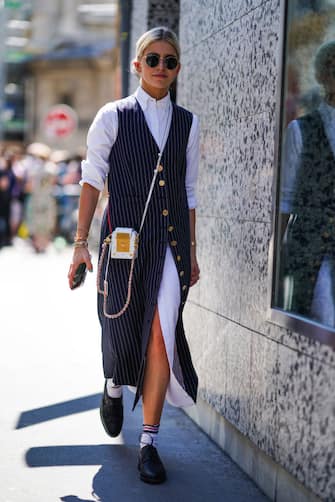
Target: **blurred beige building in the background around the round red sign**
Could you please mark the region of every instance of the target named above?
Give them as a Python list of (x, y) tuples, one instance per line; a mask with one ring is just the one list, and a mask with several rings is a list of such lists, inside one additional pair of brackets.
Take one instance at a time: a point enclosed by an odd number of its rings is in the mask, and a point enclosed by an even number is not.
[[(84, 146), (96, 111), (121, 93), (118, 2), (29, 0), (6, 12), (5, 139)], [(71, 134), (46, 127), (56, 105), (72, 109)]]

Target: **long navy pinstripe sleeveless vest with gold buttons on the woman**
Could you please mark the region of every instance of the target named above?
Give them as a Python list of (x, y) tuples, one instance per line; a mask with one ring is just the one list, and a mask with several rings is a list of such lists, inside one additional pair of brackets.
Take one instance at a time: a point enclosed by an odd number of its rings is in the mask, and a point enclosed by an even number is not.
[[(136, 98), (120, 101), (118, 136), (110, 153), (108, 189), (112, 227), (139, 229), (159, 149), (146, 124)], [(170, 245), (180, 277), (181, 304), (176, 327), (180, 384), (195, 401), (197, 375), (185, 338), (182, 312), (190, 282), (189, 210), (185, 189), (186, 147), (192, 114), (173, 104), (171, 127), (161, 160), (148, 213), (140, 236), (135, 264), (132, 297), (128, 310), (118, 319), (107, 319), (98, 295), (102, 326), (103, 366), (106, 378), (116, 384), (137, 387), (134, 407), (142, 393), (145, 354), (163, 273), (167, 245)], [(108, 207), (106, 208), (106, 211)], [(101, 239), (109, 233), (106, 211)], [(108, 285), (108, 311), (124, 304), (129, 260), (112, 260)]]

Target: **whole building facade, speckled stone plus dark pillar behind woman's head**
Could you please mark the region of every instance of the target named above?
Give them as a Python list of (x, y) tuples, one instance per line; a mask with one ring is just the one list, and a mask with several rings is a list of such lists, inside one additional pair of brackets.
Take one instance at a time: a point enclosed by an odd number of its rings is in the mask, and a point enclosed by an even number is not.
[(146, 29), (179, 32), (177, 102), (201, 123), (201, 280), (185, 311), (200, 390), (186, 411), (271, 500), (285, 502), (335, 500), (334, 326), (273, 299), (280, 129), (314, 89), (312, 77), (309, 87), (300, 78), (290, 117), (292, 64), (303, 68), (293, 49), (310, 54), (335, 38), (333, 4), (140, 0), (131, 15), (132, 56)]

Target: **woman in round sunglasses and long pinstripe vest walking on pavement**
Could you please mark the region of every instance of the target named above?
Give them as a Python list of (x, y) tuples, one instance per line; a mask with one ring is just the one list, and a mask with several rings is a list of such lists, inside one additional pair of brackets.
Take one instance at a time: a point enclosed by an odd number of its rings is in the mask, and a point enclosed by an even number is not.
[[(87, 237), (107, 178), (109, 202), (101, 242), (116, 227), (140, 232), (126, 305), (131, 263), (111, 259), (109, 253), (102, 257), (99, 275), (105, 277), (106, 288), (98, 295), (98, 313), (106, 381), (100, 414), (106, 432), (117, 436), (123, 422), (122, 385), (135, 387), (133, 409), (140, 397), (143, 403), (138, 469), (148, 483), (166, 479), (157, 452), (165, 398), (174, 406), (192, 405), (198, 384), (182, 314), (189, 287), (199, 280), (195, 240), (199, 125), (196, 116), (170, 99), (179, 59), (178, 40), (171, 30), (158, 27), (144, 33), (133, 61), (140, 86), (133, 95), (105, 105), (94, 119), (82, 164), (68, 275), (71, 287), (79, 264), (92, 270)], [(107, 239), (104, 245), (108, 243)], [(113, 316), (122, 309), (122, 315)]]

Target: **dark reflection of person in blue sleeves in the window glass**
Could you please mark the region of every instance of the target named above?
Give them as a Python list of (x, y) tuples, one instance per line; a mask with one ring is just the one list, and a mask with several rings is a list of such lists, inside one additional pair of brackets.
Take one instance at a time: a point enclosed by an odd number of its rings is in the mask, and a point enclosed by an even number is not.
[(324, 100), (287, 128), (281, 200), (283, 227), (290, 217), (282, 270), (292, 286), (282, 306), (309, 317), (325, 259), (335, 298), (335, 41), (319, 48), (315, 76)]

